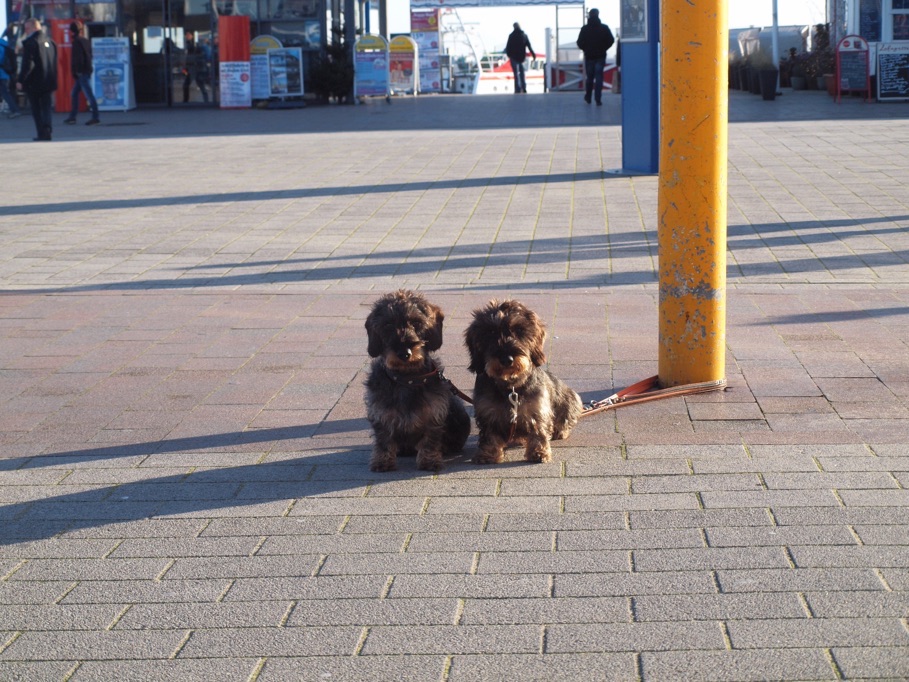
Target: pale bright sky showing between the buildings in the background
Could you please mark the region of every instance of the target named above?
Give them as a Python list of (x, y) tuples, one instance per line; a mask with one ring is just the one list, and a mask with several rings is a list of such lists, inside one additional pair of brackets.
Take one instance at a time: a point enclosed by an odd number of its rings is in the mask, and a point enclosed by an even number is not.
[[(410, 3), (408, 0), (387, 0), (388, 30), (390, 33), (410, 31)], [(729, 28), (771, 26), (773, 0), (728, 0)], [(374, 6), (378, 2), (373, 3)], [(619, 23), (619, 0), (588, 0), (587, 7), (597, 7), (600, 18), (614, 30)], [(777, 0), (777, 21), (780, 26), (817, 24), (825, 21), (826, 0)], [(461, 21), (471, 25), (482, 38), (486, 50), (504, 49), (511, 25), (517, 21), (527, 33), (530, 44), (541, 55), (544, 53), (546, 28), (555, 30), (556, 8), (550, 7), (484, 7), (458, 10)], [(584, 15), (580, 5), (563, 5), (559, 9), (561, 43), (573, 42), (583, 25)], [(373, 19), (373, 32), (378, 32), (378, 19)], [(570, 35), (567, 35), (570, 34)], [(567, 39), (566, 39), (567, 36)]]

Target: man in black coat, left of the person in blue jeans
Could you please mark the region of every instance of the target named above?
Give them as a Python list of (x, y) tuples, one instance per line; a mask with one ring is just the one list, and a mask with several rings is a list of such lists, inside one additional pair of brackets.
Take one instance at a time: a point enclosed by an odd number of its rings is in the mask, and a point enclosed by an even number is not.
[(53, 132), (51, 94), (57, 89), (57, 46), (41, 30), (41, 22), (27, 19), (22, 41), (22, 67), (16, 87), (28, 95), (38, 131), (36, 141), (50, 141)]

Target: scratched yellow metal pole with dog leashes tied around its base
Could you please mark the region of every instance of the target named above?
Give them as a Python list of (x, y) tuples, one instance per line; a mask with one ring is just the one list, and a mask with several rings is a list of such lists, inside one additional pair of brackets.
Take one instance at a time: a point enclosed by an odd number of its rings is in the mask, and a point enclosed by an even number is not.
[(725, 379), (727, 0), (662, 0), (660, 353), (664, 387)]

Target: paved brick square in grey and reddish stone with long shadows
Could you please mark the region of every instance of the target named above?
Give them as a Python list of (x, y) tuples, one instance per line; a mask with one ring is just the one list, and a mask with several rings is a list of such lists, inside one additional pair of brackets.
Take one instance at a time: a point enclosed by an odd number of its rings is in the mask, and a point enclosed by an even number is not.
[(0, 679), (909, 678), (909, 104), (730, 96), (728, 390), (374, 474), (363, 322), (656, 373), (619, 97), (0, 123)]

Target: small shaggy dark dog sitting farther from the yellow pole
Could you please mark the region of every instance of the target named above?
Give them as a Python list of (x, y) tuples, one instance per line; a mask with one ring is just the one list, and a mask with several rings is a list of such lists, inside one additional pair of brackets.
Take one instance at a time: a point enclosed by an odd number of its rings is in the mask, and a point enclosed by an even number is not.
[(366, 318), (366, 414), (375, 437), (370, 467), (397, 468), (399, 455), (417, 456), (417, 467), (442, 467), (470, 435), (470, 417), (451, 391), (435, 355), (442, 346), (442, 310), (413, 291), (380, 298)]

